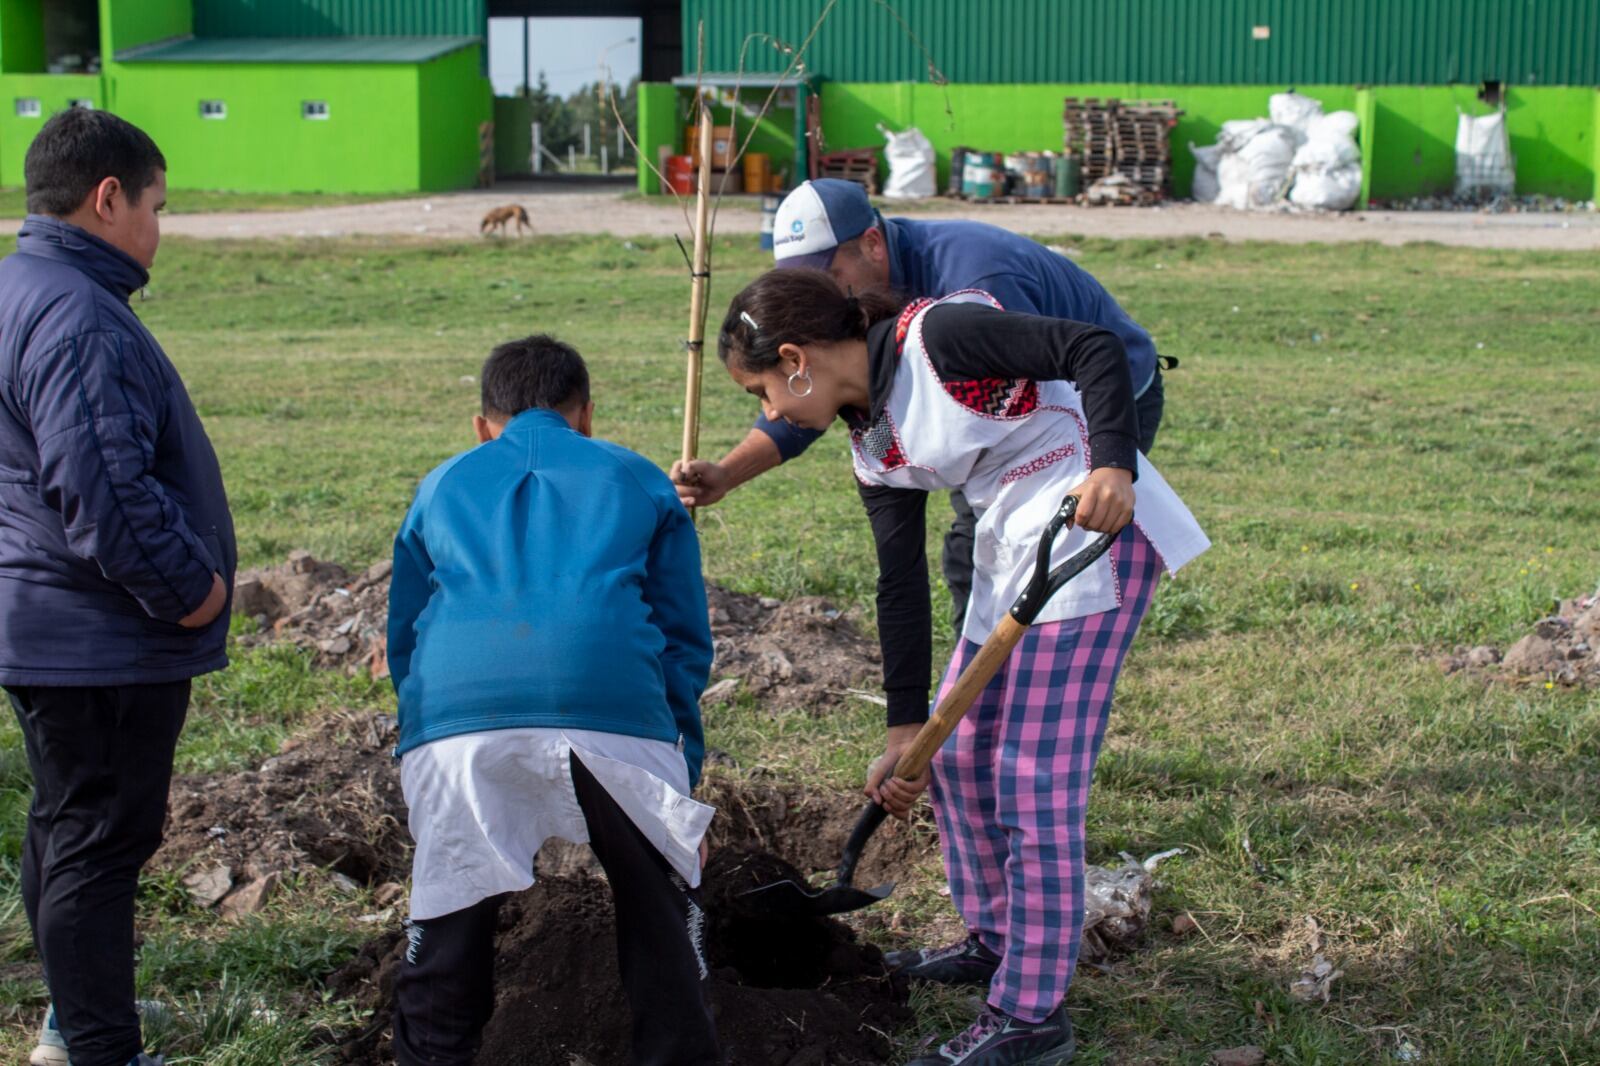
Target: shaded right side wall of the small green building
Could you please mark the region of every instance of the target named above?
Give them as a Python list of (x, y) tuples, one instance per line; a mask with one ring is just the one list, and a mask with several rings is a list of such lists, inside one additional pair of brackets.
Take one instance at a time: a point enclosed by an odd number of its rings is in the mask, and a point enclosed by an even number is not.
[(418, 77), (419, 189), (461, 189), (478, 178), (478, 125), (494, 117), (493, 90), (480, 74), (478, 48), (424, 62)]

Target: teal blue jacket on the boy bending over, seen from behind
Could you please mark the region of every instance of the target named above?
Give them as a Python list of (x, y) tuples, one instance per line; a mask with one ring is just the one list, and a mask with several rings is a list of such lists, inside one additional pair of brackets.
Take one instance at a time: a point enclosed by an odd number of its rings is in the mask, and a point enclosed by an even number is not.
[(389, 586), (397, 754), (598, 730), (678, 744), (699, 781), (710, 661), (694, 523), (643, 456), (530, 410), (422, 480)]

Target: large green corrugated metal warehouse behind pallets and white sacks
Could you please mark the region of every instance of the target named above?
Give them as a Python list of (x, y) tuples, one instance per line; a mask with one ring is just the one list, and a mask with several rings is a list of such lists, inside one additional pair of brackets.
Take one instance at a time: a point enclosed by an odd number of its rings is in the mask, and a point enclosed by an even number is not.
[[(774, 74), (827, 0), (683, 0), (682, 35), (704, 26), (707, 72)], [(683, 74), (694, 72), (694, 48)], [(930, 62), (946, 85), (936, 83)], [(1595, 0), (838, 0), (805, 51), (829, 147), (882, 146), (877, 123), (918, 126), (939, 150), (1061, 147), (1066, 96), (1173, 99), (1174, 190), (1184, 144), (1267, 114), (1296, 88), (1360, 115), (1363, 202), (1445, 192), (1458, 109), (1502, 99), (1518, 192), (1600, 195), (1600, 3)], [(747, 109), (755, 99), (744, 94)], [(730, 101), (733, 102), (733, 101)], [(733, 109), (722, 109), (723, 122)], [(640, 142), (682, 141), (688, 94), (640, 94)], [(733, 120), (742, 122), (734, 115)], [(795, 152), (779, 115), (752, 142)], [(642, 173), (640, 187), (656, 190)]]

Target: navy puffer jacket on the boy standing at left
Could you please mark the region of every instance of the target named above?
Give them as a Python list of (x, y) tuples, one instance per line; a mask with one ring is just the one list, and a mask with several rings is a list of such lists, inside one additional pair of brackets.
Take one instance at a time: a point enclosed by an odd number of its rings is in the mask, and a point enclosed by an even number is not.
[[(227, 664), (234, 520), (178, 370), (128, 306), (149, 274), (56, 218), (0, 262), (0, 683), (139, 685)], [(232, 595), (229, 597), (232, 599)]]

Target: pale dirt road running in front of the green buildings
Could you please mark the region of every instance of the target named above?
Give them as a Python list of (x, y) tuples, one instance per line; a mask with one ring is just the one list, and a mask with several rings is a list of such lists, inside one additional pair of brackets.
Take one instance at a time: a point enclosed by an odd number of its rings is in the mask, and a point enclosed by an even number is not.
[[(517, 184), (491, 190), (446, 192), (301, 211), (171, 214), (162, 232), (173, 237), (475, 237), (491, 206), (528, 206), (534, 235), (610, 232), (618, 237), (688, 234), (672, 200), (630, 197), (619, 186)], [(893, 213), (890, 210), (888, 213)], [(1006, 229), (1085, 237), (1221, 237), (1290, 243), (1376, 240), (1403, 245), (1435, 240), (1475, 248), (1600, 250), (1600, 214), (1475, 214), (1453, 211), (1355, 211), (1346, 214), (1243, 213), (1200, 203), (1157, 208), (1080, 208), (1058, 205), (974, 205), (939, 200), (906, 210), (914, 218), (971, 218)], [(19, 222), (0, 222), (14, 232)], [(722, 234), (755, 234), (754, 200), (728, 200), (717, 221)]]

